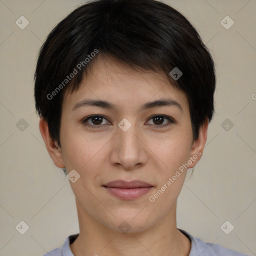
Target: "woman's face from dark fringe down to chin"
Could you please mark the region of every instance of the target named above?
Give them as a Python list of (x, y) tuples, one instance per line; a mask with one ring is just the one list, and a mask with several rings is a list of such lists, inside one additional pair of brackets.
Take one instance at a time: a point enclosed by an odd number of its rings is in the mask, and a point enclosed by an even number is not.
[[(150, 104), (157, 100), (169, 104)], [(127, 225), (137, 232), (175, 217), (186, 168), (200, 158), (206, 129), (193, 141), (187, 98), (166, 77), (98, 58), (79, 89), (64, 94), (61, 152), (52, 159), (73, 170), (79, 212), (113, 230)]]

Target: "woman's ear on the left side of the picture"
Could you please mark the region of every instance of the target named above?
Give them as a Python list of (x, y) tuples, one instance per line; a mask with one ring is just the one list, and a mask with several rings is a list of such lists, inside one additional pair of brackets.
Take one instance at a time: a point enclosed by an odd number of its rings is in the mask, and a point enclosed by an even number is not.
[(65, 163), (62, 158), (61, 148), (58, 147), (57, 142), (53, 141), (51, 138), (48, 123), (43, 117), (41, 117), (39, 120), (39, 130), (52, 161), (57, 167), (64, 168)]

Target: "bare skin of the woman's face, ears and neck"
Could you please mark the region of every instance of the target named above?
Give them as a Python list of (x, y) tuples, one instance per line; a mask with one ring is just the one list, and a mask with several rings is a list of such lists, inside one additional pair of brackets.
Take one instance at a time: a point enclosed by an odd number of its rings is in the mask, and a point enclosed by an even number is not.
[[(106, 100), (116, 109), (82, 106), (83, 99)], [(174, 105), (157, 106), (139, 111), (155, 99), (171, 98)], [(52, 99), (54, 100), (54, 99)], [(92, 114), (103, 115), (101, 123)], [(162, 122), (153, 115), (163, 114)], [(123, 131), (118, 123), (126, 118), (131, 127)], [(168, 124), (165, 125), (164, 124)], [(190, 240), (176, 227), (176, 200), (186, 171), (155, 199), (149, 201), (169, 177), (196, 152), (203, 151), (208, 121), (197, 140), (193, 140), (188, 101), (167, 78), (156, 72), (137, 72), (111, 58), (98, 57), (84, 76), (77, 91), (64, 94), (60, 124), (60, 144), (52, 140), (47, 122), (41, 118), (39, 129), (54, 164), (67, 172), (75, 169), (80, 178), (70, 186), (75, 195), (79, 236), (70, 244), (80, 255), (154, 255), (187, 256)], [(189, 168), (192, 168), (200, 156)], [(153, 185), (151, 190), (133, 200), (119, 199), (102, 186), (109, 181), (139, 179)], [(127, 233), (118, 226), (126, 221)], [(97, 254), (96, 254), (97, 253)]]

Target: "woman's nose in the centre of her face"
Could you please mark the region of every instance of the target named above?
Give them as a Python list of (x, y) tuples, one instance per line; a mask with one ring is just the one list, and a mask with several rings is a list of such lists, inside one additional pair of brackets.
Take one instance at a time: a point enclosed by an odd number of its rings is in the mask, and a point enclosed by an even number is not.
[(135, 125), (131, 125), (126, 131), (117, 127), (116, 134), (112, 138), (111, 163), (122, 166), (125, 170), (141, 167), (147, 160), (145, 144)]

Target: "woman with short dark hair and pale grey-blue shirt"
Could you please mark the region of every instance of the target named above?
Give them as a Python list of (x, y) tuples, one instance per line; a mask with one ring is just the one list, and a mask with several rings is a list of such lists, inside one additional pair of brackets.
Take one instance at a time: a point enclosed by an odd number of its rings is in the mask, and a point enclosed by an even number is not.
[(34, 96), (80, 231), (45, 255), (244, 255), (176, 226), (214, 89), (209, 51), (162, 2), (96, 0), (64, 18), (41, 47)]

